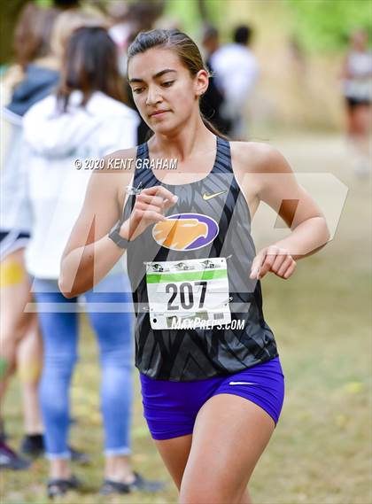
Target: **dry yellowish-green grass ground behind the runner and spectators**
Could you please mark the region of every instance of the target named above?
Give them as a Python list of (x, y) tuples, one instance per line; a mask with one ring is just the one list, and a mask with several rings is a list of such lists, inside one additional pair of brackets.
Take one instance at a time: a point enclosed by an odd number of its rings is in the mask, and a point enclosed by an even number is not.
[[(334, 240), (322, 252), (299, 261), (290, 281), (268, 275), (262, 282), (266, 319), (275, 331), (286, 376), (286, 399), (275, 434), (252, 476), (252, 498), (256, 504), (369, 504), (370, 187), (353, 176), (340, 137), (272, 136), (272, 140), (297, 172), (333, 173), (349, 193)], [(133, 464), (147, 477), (166, 480), (167, 490), (156, 496), (136, 493), (110, 500), (97, 495), (103, 458), (96, 360), (93, 338), (84, 329), (74, 376), (73, 412), (78, 422), (72, 428), (72, 442), (91, 454), (93, 462), (75, 470), (86, 483), (86, 492), (61, 501), (175, 503), (174, 486), (143, 421), (136, 371)], [(22, 428), (15, 380), (4, 416), (16, 446)], [(27, 472), (3, 474), (2, 502), (45, 502), (46, 477), (45, 461), (36, 461)]]

